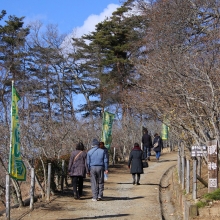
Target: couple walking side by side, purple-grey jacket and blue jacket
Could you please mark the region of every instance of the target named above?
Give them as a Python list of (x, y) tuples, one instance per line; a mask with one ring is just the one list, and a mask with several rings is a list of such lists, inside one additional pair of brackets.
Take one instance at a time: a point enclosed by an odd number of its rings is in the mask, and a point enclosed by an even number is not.
[(108, 173), (108, 150), (103, 142), (93, 139), (92, 148), (86, 153), (82, 143), (72, 152), (69, 167), (72, 177), (74, 198), (79, 199), (83, 192), (83, 179), (90, 176), (92, 201), (102, 200), (104, 191), (104, 173)]

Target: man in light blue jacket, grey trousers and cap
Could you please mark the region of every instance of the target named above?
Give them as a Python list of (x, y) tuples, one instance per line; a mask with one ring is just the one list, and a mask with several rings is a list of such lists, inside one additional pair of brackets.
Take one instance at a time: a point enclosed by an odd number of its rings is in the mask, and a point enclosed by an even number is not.
[(92, 201), (103, 200), (104, 173), (108, 173), (108, 157), (95, 138), (92, 141), (92, 149), (87, 153), (87, 164), (90, 172)]

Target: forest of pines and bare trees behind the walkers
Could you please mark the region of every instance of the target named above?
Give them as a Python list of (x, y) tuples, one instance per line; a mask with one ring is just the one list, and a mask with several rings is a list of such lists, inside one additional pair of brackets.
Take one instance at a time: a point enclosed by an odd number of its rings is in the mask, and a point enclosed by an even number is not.
[[(3, 10), (0, 20), (5, 16)], [(43, 181), (45, 160), (65, 158), (79, 141), (89, 149), (100, 138), (104, 111), (116, 116), (112, 147), (121, 160), (140, 142), (143, 126), (153, 135), (166, 124), (166, 144), (181, 142), (189, 152), (193, 144), (219, 141), (219, 1), (124, 1), (95, 31), (70, 42), (56, 25), (24, 27), (23, 19), (8, 16), (0, 26), (1, 195), (12, 80), (21, 96), (22, 158), (28, 168), (41, 163)], [(75, 94), (86, 103), (76, 108)], [(17, 197), (20, 185), (13, 180)]]

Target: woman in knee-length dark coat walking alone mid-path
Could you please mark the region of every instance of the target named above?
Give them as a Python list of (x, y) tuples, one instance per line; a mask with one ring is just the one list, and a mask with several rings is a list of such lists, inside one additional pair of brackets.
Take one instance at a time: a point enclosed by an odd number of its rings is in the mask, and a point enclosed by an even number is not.
[[(132, 174), (133, 178), (133, 185), (140, 185), (140, 177), (143, 173), (143, 151), (141, 150), (138, 143), (134, 144), (134, 148), (132, 149), (129, 161), (128, 161), (128, 168), (130, 169), (130, 173)], [(137, 180), (136, 180), (137, 174)]]

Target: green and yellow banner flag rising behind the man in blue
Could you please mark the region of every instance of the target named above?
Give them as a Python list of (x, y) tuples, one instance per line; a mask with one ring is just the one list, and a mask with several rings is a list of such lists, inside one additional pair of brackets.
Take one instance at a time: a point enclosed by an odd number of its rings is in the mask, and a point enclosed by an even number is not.
[(102, 119), (102, 137), (101, 140), (105, 143), (106, 148), (110, 148), (112, 142), (112, 124), (115, 115), (109, 112), (104, 112)]

